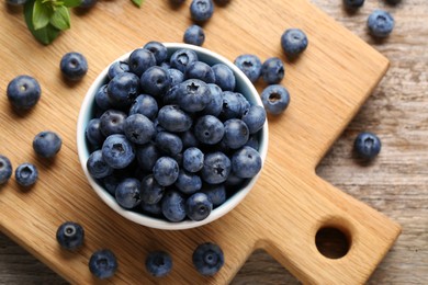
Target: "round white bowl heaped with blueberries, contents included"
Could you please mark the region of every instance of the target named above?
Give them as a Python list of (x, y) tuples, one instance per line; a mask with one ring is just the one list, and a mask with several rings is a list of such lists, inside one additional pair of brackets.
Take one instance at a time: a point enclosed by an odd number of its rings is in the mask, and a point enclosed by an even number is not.
[(113, 210), (151, 228), (194, 228), (254, 187), (268, 151), (267, 114), (225, 57), (153, 41), (91, 84), (77, 147), (89, 184)]

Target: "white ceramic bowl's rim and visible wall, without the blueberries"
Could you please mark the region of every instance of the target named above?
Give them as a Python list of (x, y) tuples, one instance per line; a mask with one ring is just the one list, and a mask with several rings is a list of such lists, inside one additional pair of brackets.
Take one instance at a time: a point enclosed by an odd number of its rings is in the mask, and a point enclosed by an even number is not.
[[(168, 49), (168, 57), (180, 48), (189, 48), (194, 50), (198, 54), (199, 60), (204, 61), (209, 64), (210, 66), (222, 62), (228, 66), (235, 73), (236, 77), (236, 91), (240, 92), (243, 95), (247, 98), (247, 100), (251, 104), (262, 105), (260, 96), (255, 89), (254, 84), (248, 80), (248, 78), (228, 59), (225, 57), (213, 53), (206, 48), (202, 48), (199, 46), (188, 45), (188, 44), (180, 44), (180, 43), (165, 43), (165, 46)], [(126, 61), (129, 54), (132, 52), (121, 56), (116, 60)], [(116, 61), (114, 60), (114, 61)], [(97, 91), (100, 89), (101, 86), (103, 86), (106, 82), (106, 75), (108, 75), (109, 67), (106, 67), (95, 79), (95, 81), (91, 84), (91, 87), (88, 90), (88, 93), (85, 96), (83, 103), (80, 107), (79, 118), (78, 118), (78, 125), (77, 125), (77, 149), (79, 153), (79, 159), (81, 167), (83, 169), (85, 174), (88, 178), (89, 184), (92, 186), (92, 189), (97, 192), (97, 194), (101, 197), (101, 200), (106, 203), (112, 209), (114, 209), (116, 213), (122, 215), (123, 217), (133, 220), (137, 224), (151, 227), (151, 228), (158, 228), (158, 229), (167, 229), (167, 230), (178, 230), (178, 229), (188, 229), (188, 228), (195, 228), (205, 224), (209, 224), (213, 220), (218, 219), (223, 215), (230, 212), (235, 206), (237, 206), (244, 197), (250, 192), (252, 186), (255, 185), (257, 179), (259, 178), (259, 174), (252, 178), (248, 183), (245, 184), (245, 186), (240, 190), (238, 190), (233, 196), (228, 197), (224, 204), (221, 206), (214, 208), (210, 216), (201, 221), (193, 221), (193, 220), (183, 220), (179, 223), (171, 223), (167, 221), (165, 219), (154, 218), (140, 213), (132, 212), (128, 209), (125, 209), (121, 207), (115, 198), (106, 191), (104, 190), (88, 172), (87, 170), (87, 160), (90, 156), (90, 151), (88, 148), (88, 142), (86, 140), (85, 130), (88, 125), (88, 122), (92, 118), (92, 111), (94, 107), (94, 96)], [(263, 128), (260, 130), (260, 138), (259, 138), (259, 153), (262, 159), (262, 163), (264, 163), (264, 159), (268, 151), (268, 123), (264, 124)]]

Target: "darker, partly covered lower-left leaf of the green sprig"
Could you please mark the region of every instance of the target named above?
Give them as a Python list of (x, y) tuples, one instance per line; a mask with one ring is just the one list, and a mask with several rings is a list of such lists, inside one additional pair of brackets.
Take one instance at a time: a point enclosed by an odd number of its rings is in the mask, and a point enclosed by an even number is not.
[(40, 43), (48, 45), (59, 35), (59, 30), (52, 24), (47, 24), (42, 29), (35, 30), (33, 25), (33, 10), (34, 0), (30, 0), (24, 5), (24, 18), (26, 26)]

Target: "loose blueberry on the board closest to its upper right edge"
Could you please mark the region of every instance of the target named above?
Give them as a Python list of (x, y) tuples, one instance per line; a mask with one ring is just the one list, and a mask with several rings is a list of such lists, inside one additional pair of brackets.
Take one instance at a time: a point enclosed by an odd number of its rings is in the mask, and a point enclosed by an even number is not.
[(294, 58), (307, 47), (307, 36), (300, 29), (289, 29), (281, 36), (281, 46), (289, 58)]

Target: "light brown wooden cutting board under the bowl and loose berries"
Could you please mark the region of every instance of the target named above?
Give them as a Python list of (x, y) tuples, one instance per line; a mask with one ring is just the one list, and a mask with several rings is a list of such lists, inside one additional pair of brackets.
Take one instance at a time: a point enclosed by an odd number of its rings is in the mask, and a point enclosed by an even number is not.
[[(35, 42), (21, 9), (0, 8), (0, 153), (13, 166), (35, 163), (40, 180), (30, 190), (14, 179), (0, 187), (0, 229), (75, 284), (97, 283), (89, 270), (91, 253), (113, 250), (117, 274), (106, 281), (127, 284), (225, 284), (257, 248), (272, 254), (303, 283), (361, 284), (393, 246), (401, 228), (387, 217), (318, 178), (315, 167), (340, 135), (387, 69), (388, 61), (360, 38), (305, 0), (233, 0), (215, 7), (205, 24), (204, 47), (230, 60), (240, 54), (262, 60), (279, 56), (286, 65), (282, 81), (291, 93), (288, 111), (269, 117), (269, 152), (260, 180), (233, 212), (198, 229), (162, 231), (124, 219), (89, 186), (79, 164), (76, 124), (86, 91), (97, 75), (120, 55), (148, 41), (182, 42), (192, 22), (187, 1), (146, 0), (142, 9), (128, 0), (100, 1), (88, 13), (71, 14), (71, 30), (49, 46)], [(296, 61), (281, 53), (280, 36), (288, 27), (303, 29), (308, 48)], [(80, 52), (89, 61), (88, 75), (67, 83), (59, 60)], [(7, 100), (5, 88), (18, 75), (37, 78), (42, 99), (20, 114)], [(263, 83), (258, 83), (259, 91)], [(54, 161), (32, 150), (34, 135), (57, 132), (64, 140)], [(86, 228), (79, 251), (60, 250), (55, 232), (65, 220)], [(345, 232), (348, 253), (329, 259), (317, 250), (315, 235), (323, 227)], [(213, 277), (193, 269), (193, 249), (202, 242), (219, 244), (225, 265)], [(171, 253), (174, 266), (165, 278), (153, 278), (144, 259), (151, 250)]]

